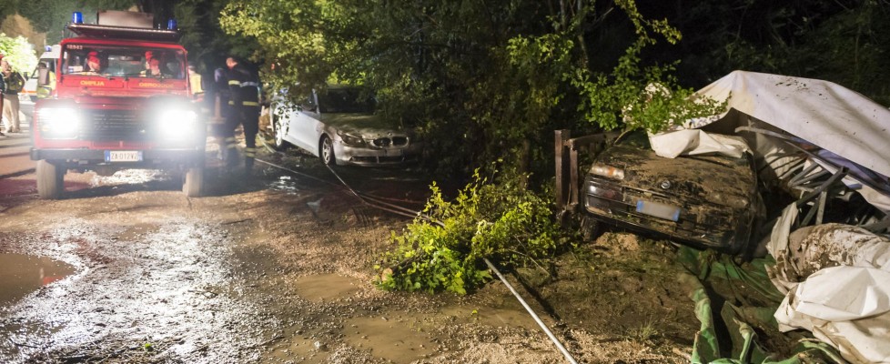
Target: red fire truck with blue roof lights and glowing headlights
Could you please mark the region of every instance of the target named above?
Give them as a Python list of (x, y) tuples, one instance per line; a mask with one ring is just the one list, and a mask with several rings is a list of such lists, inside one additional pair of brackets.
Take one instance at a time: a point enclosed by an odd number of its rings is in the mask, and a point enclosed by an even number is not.
[(39, 196), (61, 197), (68, 170), (131, 168), (177, 172), (183, 192), (200, 196), (207, 126), (175, 22), (157, 29), (145, 13), (100, 11), (95, 25), (75, 13), (66, 27), (56, 87), (31, 121)]

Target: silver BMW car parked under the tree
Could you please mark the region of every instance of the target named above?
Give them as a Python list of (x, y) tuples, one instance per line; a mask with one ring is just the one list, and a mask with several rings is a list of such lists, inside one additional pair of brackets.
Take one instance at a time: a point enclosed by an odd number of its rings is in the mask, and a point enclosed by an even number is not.
[(313, 91), (297, 106), (283, 98), (271, 110), (278, 148), (297, 146), (328, 165), (399, 165), (420, 156), (413, 129), (377, 113), (374, 97), (357, 87)]

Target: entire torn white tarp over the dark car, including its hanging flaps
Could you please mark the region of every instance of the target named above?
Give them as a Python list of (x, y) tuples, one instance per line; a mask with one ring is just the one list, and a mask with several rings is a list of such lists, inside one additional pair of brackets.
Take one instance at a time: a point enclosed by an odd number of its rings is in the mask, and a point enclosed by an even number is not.
[[(745, 71), (734, 71), (698, 90), (693, 97), (703, 96), (719, 101), (729, 97), (727, 112), (688, 120), (673, 131), (650, 135), (652, 150), (657, 155), (673, 158), (720, 153), (738, 157), (741, 151), (747, 150), (743, 139), (697, 129), (704, 126), (721, 130), (723, 134), (733, 134), (735, 126), (784, 130), (832, 152), (820, 153), (826, 159), (862, 172), (854, 175), (859, 180), (844, 177), (844, 184), (858, 190), (875, 207), (890, 211), (890, 183), (886, 177), (890, 176), (890, 158), (886, 157), (890, 156), (890, 109), (831, 82)], [(731, 112), (733, 117), (725, 117)], [(715, 123), (718, 120), (720, 122)], [(722, 124), (727, 126), (720, 126)], [(793, 165), (788, 162), (796, 157), (783, 157), (792, 151), (787, 147), (762, 136), (746, 136), (746, 139), (755, 154), (764, 157), (774, 168), (776, 176)], [(850, 161), (869, 170), (864, 171)], [(880, 189), (863, 185), (863, 179)]]

